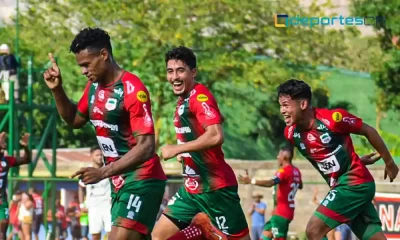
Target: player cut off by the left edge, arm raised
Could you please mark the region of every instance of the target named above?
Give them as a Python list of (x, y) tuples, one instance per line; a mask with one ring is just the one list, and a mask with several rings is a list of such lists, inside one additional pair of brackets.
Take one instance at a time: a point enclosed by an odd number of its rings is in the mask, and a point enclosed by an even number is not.
[(7, 239), (9, 222), (7, 198), (8, 171), (12, 167), (29, 164), (31, 162), (32, 157), (28, 148), (28, 140), (29, 134), (25, 133), (19, 141), (24, 149), (24, 155), (21, 158), (4, 156), (4, 151), (7, 148), (6, 133), (0, 133), (0, 240)]

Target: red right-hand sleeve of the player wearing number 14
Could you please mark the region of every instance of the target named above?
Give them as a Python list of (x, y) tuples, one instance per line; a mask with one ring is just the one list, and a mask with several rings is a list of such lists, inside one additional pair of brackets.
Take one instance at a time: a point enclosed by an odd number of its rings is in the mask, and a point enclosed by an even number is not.
[(150, 95), (139, 80), (124, 81), (124, 106), (129, 113), (133, 136), (154, 134)]

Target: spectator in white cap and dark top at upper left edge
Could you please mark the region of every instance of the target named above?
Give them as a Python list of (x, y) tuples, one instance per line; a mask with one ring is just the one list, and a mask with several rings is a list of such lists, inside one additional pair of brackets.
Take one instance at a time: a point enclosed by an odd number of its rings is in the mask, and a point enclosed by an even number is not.
[(9, 100), (10, 82), (14, 82), (14, 98), (19, 101), (19, 84), (17, 79), (18, 62), (7, 44), (0, 45), (0, 81), (6, 101)]

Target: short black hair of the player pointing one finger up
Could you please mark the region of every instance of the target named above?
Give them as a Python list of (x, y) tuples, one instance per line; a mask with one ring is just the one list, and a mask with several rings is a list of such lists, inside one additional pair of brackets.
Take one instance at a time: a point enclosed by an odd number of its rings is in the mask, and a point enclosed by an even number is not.
[(76, 54), (85, 49), (100, 51), (102, 48), (107, 49), (112, 55), (110, 35), (103, 29), (89, 27), (82, 29), (75, 36), (69, 50)]

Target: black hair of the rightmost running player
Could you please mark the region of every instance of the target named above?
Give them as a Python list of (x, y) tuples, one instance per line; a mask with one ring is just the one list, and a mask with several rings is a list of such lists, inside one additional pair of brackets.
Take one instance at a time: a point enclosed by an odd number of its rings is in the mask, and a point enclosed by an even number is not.
[(278, 87), (278, 97), (290, 96), (293, 100), (307, 99), (311, 102), (311, 87), (302, 80), (289, 79)]

